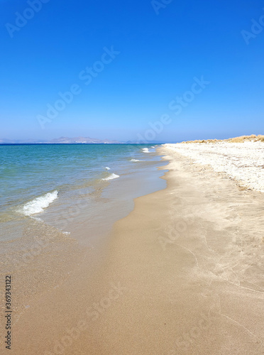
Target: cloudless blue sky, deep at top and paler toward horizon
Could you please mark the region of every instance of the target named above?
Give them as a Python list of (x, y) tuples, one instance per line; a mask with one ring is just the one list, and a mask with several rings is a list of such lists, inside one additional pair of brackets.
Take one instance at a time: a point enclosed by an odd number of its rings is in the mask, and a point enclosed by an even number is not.
[[(0, 0), (0, 138), (135, 141), (164, 114), (155, 141), (264, 133), (263, 1), (45, 1), (36, 12)], [(247, 44), (252, 19), (263, 25)], [(111, 46), (120, 53), (101, 65)], [(79, 77), (94, 65), (91, 80)], [(210, 84), (186, 94), (202, 75)], [(81, 92), (42, 129), (36, 117), (73, 84)]]

